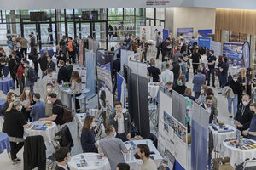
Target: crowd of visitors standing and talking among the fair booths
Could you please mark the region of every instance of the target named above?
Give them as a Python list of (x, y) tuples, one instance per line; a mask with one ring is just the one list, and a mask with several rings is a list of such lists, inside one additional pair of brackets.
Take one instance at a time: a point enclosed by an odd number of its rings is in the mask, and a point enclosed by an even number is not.
[[(8, 42), (9, 56), (0, 48), (0, 63), (9, 66), (10, 77), (16, 87), (20, 88), (20, 95), (14, 92), (7, 94), (4, 108), (0, 111), (4, 116), (3, 132), (9, 136), (11, 159), (14, 162), (20, 161), (16, 155), (24, 144), (23, 133), (24, 128), (29, 127), (28, 122), (53, 121), (59, 128), (65, 124), (61, 96), (55, 90), (55, 85), (67, 82), (67, 87), (71, 88), (75, 97), (82, 93), (81, 75), (78, 71), (73, 71), (73, 65), (78, 60), (78, 37), (73, 40), (72, 37), (63, 36), (56, 46), (54, 56), (49, 55), (47, 51), (40, 56), (36, 37), (33, 33), (29, 37), (29, 41), (20, 36), (11, 37)], [(27, 54), (28, 47), (31, 48), (30, 54)], [(174, 38), (172, 34), (163, 40), (159, 32), (155, 44), (157, 53), (154, 58), (148, 59), (148, 47), (144, 37), (140, 39), (133, 35), (125, 36), (124, 42), (119, 43), (119, 48), (111, 48), (109, 51), (114, 58), (114, 75), (121, 68), (121, 49), (140, 52), (140, 61), (148, 65), (148, 82), (154, 82), (172, 94), (175, 91), (186, 99), (197, 102), (210, 113), (209, 123), (212, 123), (214, 116), (218, 116), (218, 99), (213, 93), (213, 88), (218, 86), (221, 89), (219, 93), (227, 98), (228, 116), (230, 119), (234, 118), (237, 129), (241, 130), (244, 137), (256, 139), (256, 103), (253, 103), (254, 84), (251, 68), (242, 68), (239, 74), (229, 75), (228, 58), (216, 57), (213, 50), (201, 50), (195, 37), (189, 43), (183, 37)], [(206, 63), (201, 62), (202, 55), (207, 56)], [(157, 65), (158, 61), (160, 68)], [(42, 77), (38, 77), (39, 68)], [(2, 66), (0, 69), (3, 69)], [(190, 69), (194, 75), (191, 78)], [(54, 71), (58, 71), (56, 82), (52, 79)], [(2, 72), (0, 71), (0, 74)], [(218, 85), (215, 82), (216, 76)], [(42, 79), (43, 95), (34, 89), (38, 79)], [(190, 88), (189, 79), (193, 84)], [(74, 100), (74, 109), (79, 112), (79, 100)], [(156, 102), (158, 100), (157, 97)], [(80, 142), (84, 153), (95, 152), (100, 156), (107, 156), (111, 169), (126, 170), (129, 169), (129, 165), (125, 164), (123, 153), (129, 152), (130, 149), (125, 147), (124, 142), (131, 139), (131, 118), (122, 108), (122, 103), (114, 104), (114, 112), (108, 116), (109, 126), (105, 130), (107, 137), (100, 141), (95, 139), (96, 117), (86, 116)], [(147, 144), (137, 145), (137, 156), (143, 161), (143, 170), (156, 169), (154, 161), (149, 158), (149, 152)], [(67, 161), (70, 159), (70, 150), (61, 147), (55, 152), (55, 158), (58, 162), (56, 169), (69, 169)]]

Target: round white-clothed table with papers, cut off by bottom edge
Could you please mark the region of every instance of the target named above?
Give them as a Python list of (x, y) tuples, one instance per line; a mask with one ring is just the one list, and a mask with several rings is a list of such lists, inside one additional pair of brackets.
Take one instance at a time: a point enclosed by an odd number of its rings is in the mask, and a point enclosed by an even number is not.
[(100, 155), (96, 153), (78, 154), (71, 157), (68, 167), (70, 170), (110, 170), (108, 158), (99, 159), (99, 157)]

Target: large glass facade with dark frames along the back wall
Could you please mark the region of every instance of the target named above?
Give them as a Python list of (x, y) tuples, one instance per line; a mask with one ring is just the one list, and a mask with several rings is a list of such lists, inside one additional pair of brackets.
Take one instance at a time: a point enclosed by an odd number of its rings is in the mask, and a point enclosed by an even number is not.
[[(44, 12), (46, 20), (32, 21), (31, 12)], [(83, 14), (94, 14), (93, 20)], [(165, 8), (108, 8), (108, 9), (45, 9), (0, 11), (0, 46), (7, 45), (11, 36), (28, 39), (34, 32), (40, 48), (57, 44), (62, 35), (79, 38), (91, 36), (100, 42), (123, 41), (125, 35), (139, 35), (139, 26), (164, 26)]]

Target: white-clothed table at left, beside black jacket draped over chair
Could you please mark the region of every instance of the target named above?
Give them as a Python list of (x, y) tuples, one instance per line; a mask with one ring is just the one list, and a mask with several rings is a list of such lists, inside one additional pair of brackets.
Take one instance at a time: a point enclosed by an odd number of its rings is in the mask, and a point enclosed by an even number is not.
[[(50, 126), (46, 126), (46, 123), (51, 123)], [(34, 126), (38, 127), (47, 127), (45, 130), (36, 130), (33, 129)], [(50, 156), (54, 153), (55, 150), (53, 150), (52, 141), (54, 141), (55, 133), (58, 132), (58, 127), (56, 126), (55, 122), (51, 121), (35, 121), (30, 123), (29, 128), (24, 129), (25, 136), (37, 136), (41, 135), (44, 138), (44, 144), (46, 146), (46, 156)]]

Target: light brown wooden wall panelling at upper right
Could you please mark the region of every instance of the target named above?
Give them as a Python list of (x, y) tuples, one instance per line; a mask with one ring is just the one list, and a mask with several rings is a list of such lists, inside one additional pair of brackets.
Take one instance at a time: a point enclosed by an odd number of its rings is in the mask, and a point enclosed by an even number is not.
[(218, 42), (221, 41), (222, 30), (256, 35), (256, 11), (217, 8), (215, 37)]

